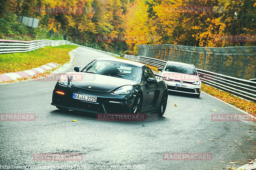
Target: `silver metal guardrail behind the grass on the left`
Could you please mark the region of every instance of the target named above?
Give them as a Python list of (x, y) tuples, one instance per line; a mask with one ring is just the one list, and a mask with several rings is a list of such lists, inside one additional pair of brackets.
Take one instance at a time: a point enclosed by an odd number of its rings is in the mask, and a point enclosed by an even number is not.
[(59, 40), (35, 40), (35, 41), (16, 41), (0, 40), (0, 54), (28, 52), (46, 46), (59, 46), (68, 44), (68, 41)]

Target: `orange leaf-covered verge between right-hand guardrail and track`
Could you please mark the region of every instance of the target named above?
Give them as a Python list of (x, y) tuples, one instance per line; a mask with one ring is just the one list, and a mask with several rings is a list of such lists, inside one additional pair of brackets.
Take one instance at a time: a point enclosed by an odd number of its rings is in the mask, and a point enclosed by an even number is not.
[[(120, 58), (120, 59), (125, 59), (123, 57), (116, 57), (116, 58)], [(127, 60), (127, 59), (125, 59)], [(146, 64), (147, 65), (147, 64)], [(148, 67), (151, 69), (151, 70), (154, 70), (154, 71), (157, 71), (158, 72), (158, 68), (157, 67), (154, 67), (154, 66), (150, 66), (148, 65)], [(256, 116), (256, 103), (254, 102), (251, 102), (251, 101), (246, 101), (244, 99), (241, 99), (237, 96), (234, 96), (228, 92), (224, 92), (224, 91), (221, 91), (219, 89), (216, 89), (212, 86), (208, 86), (208, 85), (204, 85), (202, 83), (202, 86), (201, 86), (201, 90), (207, 94), (210, 94), (222, 101), (225, 101), (226, 103), (229, 103), (241, 110), (244, 110), (245, 112), (253, 115), (253, 116)]]

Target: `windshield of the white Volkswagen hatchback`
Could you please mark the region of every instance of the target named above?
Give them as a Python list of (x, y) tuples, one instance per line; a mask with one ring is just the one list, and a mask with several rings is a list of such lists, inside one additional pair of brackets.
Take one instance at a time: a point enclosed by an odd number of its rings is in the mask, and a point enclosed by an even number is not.
[(165, 68), (165, 71), (197, 75), (196, 69), (193, 66), (189, 66), (189, 65), (168, 64)]

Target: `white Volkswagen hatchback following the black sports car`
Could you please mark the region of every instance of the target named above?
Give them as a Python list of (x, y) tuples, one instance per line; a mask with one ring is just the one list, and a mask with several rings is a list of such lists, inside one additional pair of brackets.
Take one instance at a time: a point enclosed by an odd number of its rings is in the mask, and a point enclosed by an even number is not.
[(168, 91), (195, 94), (200, 96), (201, 84), (199, 77), (203, 77), (196, 71), (193, 64), (168, 61), (163, 68), (158, 68), (167, 85)]

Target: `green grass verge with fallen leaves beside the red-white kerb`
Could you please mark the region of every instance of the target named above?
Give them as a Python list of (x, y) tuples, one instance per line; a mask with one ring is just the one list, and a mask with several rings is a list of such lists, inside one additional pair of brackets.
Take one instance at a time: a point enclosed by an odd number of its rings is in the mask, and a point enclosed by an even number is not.
[(30, 52), (0, 54), (0, 74), (24, 71), (47, 63), (65, 64), (70, 61), (68, 52), (73, 45), (47, 46)]

